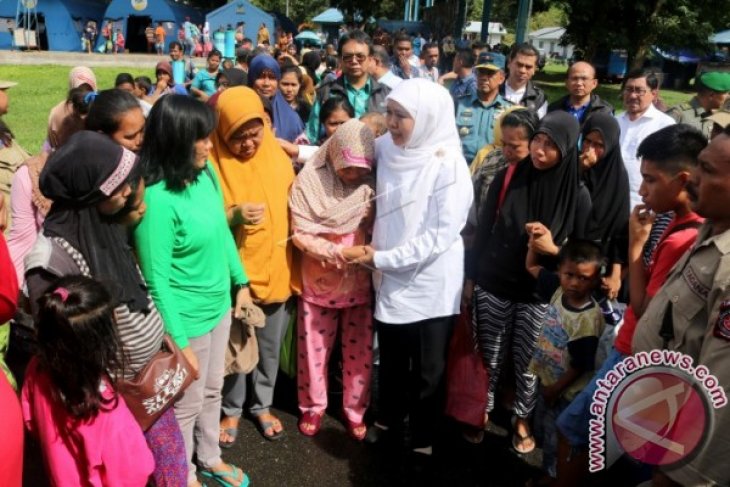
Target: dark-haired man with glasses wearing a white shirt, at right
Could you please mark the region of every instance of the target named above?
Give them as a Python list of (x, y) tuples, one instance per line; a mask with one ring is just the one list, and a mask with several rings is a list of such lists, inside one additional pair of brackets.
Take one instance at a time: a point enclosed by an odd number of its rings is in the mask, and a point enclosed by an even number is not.
[(639, 144), (650, 134), (668, 125), (674, 119), (654, 107), (654, 99), (659, 90), (659, 79), (652, 71), (631, 71), (624, 79), (621, 87), (624, 109), (617, 116), (621, 136), (621, 156), (624, 159), (626, 172), (629, 174), (631, 208), (641, 204), (639, 187), (641, 186), (641, 161), (636, 157)]

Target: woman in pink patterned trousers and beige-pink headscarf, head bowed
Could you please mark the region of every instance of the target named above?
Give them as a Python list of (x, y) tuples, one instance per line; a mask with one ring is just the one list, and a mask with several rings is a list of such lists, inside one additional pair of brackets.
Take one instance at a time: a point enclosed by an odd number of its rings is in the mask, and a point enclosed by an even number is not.
[[(347, 261), (372, 230), (373, 133), (359, 120), (343, 124), (297, 176), (289, 198), (294, 244), (302, 250), (299, 301), (299, 431), (314, 436), (327, 408), (327, 363), (342, 338), (343, 409), (354, 439), (367, 433), (372, 312), (370, 274)], [(356, 247), (359, 246), (359, 247)]]

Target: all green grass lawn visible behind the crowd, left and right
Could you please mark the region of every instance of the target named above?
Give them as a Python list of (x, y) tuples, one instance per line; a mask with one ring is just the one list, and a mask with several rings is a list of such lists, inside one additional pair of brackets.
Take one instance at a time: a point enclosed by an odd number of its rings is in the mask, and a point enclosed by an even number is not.
[[(31, 153), (40, 149), (46, 137), (48, 113), (59, 101), (63, 100), (68, 90), (67, 66), (3, 66), (0, 78), (18, 82), (18, 86), (8, 91), (10, 110), (5, 117), (7, 124), (15, 133), (20, 144)], [(542, 73), (536, 76), (537, 83), (545, 90), (550, 100), (565, 95), (565, 72), (567, 66), (548, 64)], [(132, 76), (147, 75), (153, 77), (152, 69), (137, 68), (94, 68), (99, 89), (111, 88), (118, 73), (128, 72)], [(621, 108), (619, 85), (600, 85), (598, 95), (617, 109)], [(667, 106), (676, 105), (689, 100), (691, 92), (662, 90), (661, 96)]]

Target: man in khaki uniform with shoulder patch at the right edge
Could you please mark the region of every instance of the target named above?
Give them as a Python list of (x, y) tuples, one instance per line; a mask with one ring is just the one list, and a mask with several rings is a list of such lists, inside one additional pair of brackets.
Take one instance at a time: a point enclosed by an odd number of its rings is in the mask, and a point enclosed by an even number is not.
[[(712, 139), (699, 160), (688, 192), (707, 221), (649, 303), (632, 348), (634, 353), (668, 348), (689, 355), (696, 371), (704, 365), (717, 378), (715, 390), (719, 385), (730, 395), (730, 129)], [(666, 313), (671, 320), (664, 320)], [(661, 467), (653, 485), (728, 485), (730, 405), (710, 409), (714, 425), (703, 432), (704, 448), (687, 462)]]

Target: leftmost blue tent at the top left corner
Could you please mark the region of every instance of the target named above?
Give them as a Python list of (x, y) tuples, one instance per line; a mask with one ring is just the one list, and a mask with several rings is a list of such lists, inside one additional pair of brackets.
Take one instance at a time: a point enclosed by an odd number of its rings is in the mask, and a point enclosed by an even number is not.
[[(12, 19), (15, 26), (15, 15), (18, 3), (13, 0), (0, 0), (0, 19)], [(41, 47), (50, 51), (80, 51), (81, 33), (89, 20), (101, 23), (105, 5), (96, 0), (39, 0), (36, 7), (38, 32)], [(35, 26), (31, 26), (35, 28)], [(0, 49), (10, 49), (12, 38), (7, 29), (0, 31)]]

